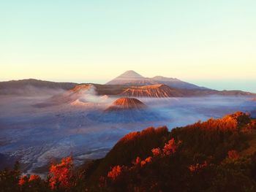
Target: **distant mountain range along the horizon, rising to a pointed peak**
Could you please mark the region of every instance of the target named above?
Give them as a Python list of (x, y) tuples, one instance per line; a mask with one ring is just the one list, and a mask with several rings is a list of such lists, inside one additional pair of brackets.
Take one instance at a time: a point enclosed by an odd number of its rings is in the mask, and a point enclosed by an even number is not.
[[(72, 95), (75, 99), (80, 91), (94, 85), (98, 95), (125, 96), (125, 97), (181, 97), (181, 96), (256, 96), (255, 93), (245, 91), (217, 91), (210, 88), (200, 87), (176, 78), (156, 76), (153, 78), (143, 77), (132, 70), (124, 72), (105, 85), (94, 83), (75, 82), (50, 82), (43, 80), (12, 80), (0, 82), (0, 95), (33, 95), (39, 91), (62, 90), (68, 91), (65, 95)], [(37, 88), (37, 91), (34, 90)], [(73, 94), (75, 92), (75, 94)], [(56, 96), (55, 99), (59, 97)], [(63, 99), (63, 98), (62, 98)], [(67, 98), (66, 98), (67, 99)], [(67, 99), (69, 100), (69, 99)]]

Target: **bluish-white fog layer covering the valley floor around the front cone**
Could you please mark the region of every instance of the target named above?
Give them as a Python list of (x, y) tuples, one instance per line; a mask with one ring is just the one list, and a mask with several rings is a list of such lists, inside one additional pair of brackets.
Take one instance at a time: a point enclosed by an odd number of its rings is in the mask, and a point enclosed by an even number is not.
[(87, 159), (103, 157), (130, 131), (148, 126), (171, 129), (197, 120), (220, 118), (238, 110), (255, 116), (256, 107), (256, 102), (248, 97), (140, 98), (157, 118), (127, 123), (129, 120), (118, 122), (118, 118), (113, 117), (113, 122), (104, 122), (89, 117), (95, 113), (105, 115), (105, 109), (118, 97), (97, 96), (93, 86), (72, 95), (70, 100), (61, 99), (68, 96), (67, 91), (39, 91), (31, 87), (20, 94), (0, 95), (2, 166), (18, 159), (26, 173), (39, 173), (44, 172), (42, 167), (53, 158), (70, 154), (76, 164), (81, 164)]

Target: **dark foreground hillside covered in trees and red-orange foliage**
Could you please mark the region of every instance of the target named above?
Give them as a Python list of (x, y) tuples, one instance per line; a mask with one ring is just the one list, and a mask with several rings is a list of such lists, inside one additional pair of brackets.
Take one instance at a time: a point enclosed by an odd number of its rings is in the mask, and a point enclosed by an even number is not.
[(105, 158), (50, 165), (47, 179), (0, 172), (0, 191), (256, 191), (256, 120), (236, 112), (120, 139)]

